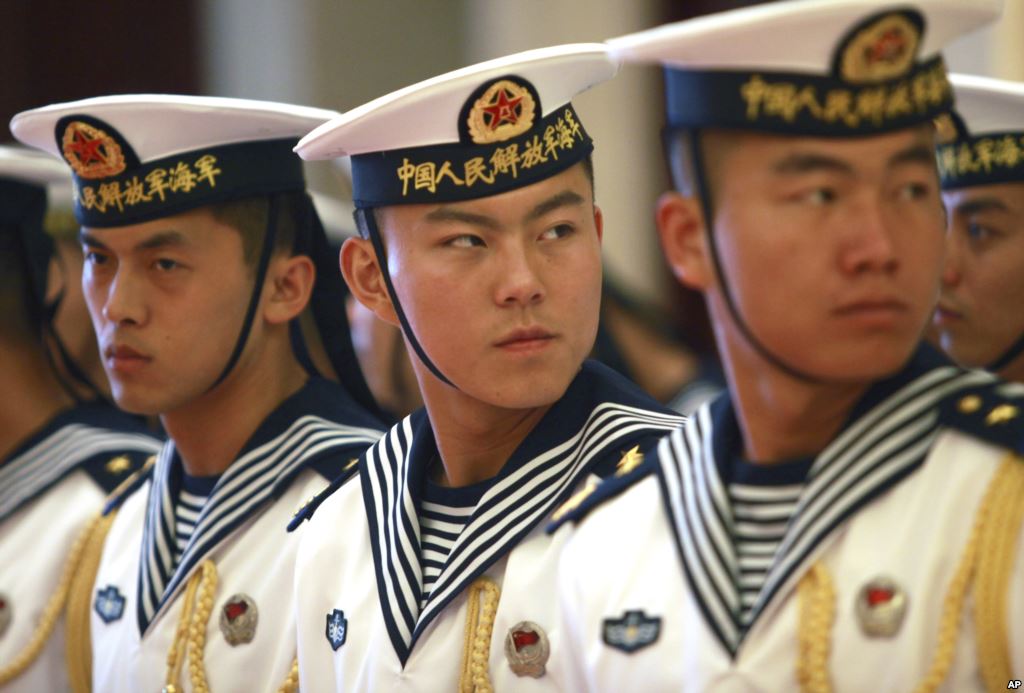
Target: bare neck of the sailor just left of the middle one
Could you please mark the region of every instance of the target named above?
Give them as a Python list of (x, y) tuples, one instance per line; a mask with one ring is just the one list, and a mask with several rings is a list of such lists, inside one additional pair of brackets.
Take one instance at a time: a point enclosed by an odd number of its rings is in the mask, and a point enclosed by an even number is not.
[[(276, 352), (275, 352), (276, 353)], [(217, 387), (162, 414), (161, 423), (193, 476), (218, 476), (231, 466), (260, 424), (298, 392), (306, 374), (291, 355), (243, 357)]]

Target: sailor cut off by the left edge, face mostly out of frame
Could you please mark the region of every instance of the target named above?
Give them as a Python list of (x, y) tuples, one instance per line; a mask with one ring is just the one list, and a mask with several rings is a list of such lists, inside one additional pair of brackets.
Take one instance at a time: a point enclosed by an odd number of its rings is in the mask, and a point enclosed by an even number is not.
[(96, 346), (91, 328), (81, 339), (73, 329), (89, 321), (70, 284), (76, 258), (57, 251), (69, 244), (60, 222), (70, 209), (67, 167), (32, 149), (0, 147), (4, 691), (67, 690), (63, 610), (82, 537), (104, 496), (160, 449), (144, 422), (114, 407), (105, 382), (88, 373)]

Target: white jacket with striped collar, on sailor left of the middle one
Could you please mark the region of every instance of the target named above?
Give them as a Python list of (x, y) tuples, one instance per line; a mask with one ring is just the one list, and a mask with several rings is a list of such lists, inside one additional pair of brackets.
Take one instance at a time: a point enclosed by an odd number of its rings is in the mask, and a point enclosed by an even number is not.
[[(91, 612), (93, 690), (162, 689), (187, 584), (201, 580), (198, 609), (210, 587), (202, 566), (212, 561), (211, 610), (199, 629), (209, 688), (275, 691), (295, 657), (297, 542), (285, 526), (303, 501), (380, 438), (379, 426), (338, 386), (311, 379), (270, 414), (219, 478), (176, 565), (173, 485), (181, 462), (169, 441), (152, 475), (120, 501), (106, 535)], [(191, 646), (182, 647), (177, 690), (190, 691), (198, 662)]]

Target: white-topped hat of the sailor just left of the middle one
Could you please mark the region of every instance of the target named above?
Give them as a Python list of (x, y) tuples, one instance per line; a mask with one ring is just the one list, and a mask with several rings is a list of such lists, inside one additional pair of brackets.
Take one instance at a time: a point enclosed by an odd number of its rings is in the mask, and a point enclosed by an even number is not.
[(292, 147), (337, 115), (269, 101), (126, 94), (26, 111), (10, 128), (71, 167), (81, 224), (120, 226), (304, 189)]

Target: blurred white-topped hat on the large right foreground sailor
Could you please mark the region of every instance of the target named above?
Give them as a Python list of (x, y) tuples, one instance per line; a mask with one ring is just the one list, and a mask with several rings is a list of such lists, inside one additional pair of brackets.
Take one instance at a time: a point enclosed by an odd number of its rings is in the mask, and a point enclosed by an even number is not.
[(1001, 0), (788, 0), (608, 41), (624, 62), (666, 66), (673, 128), (867, 135), (949, 110), (940, 51)]

